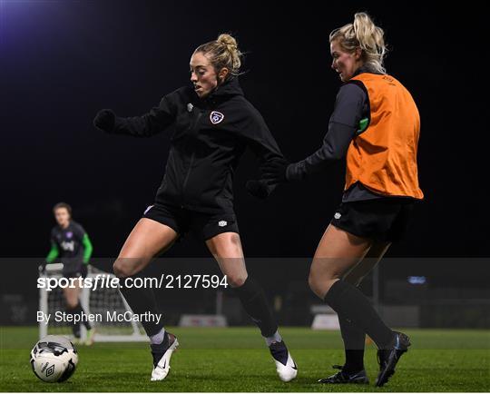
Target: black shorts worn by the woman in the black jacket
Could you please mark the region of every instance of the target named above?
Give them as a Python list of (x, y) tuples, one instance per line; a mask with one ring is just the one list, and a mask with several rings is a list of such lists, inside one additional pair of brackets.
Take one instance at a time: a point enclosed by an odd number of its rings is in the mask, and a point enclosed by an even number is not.
[(192, 232), (201, 241), (207, 241), (222, 232), (239, 233), (234, 213), (203, 213), (168, 204), (154, 204), (146, 209), (143, 218), (165, 224), (180, 236)]

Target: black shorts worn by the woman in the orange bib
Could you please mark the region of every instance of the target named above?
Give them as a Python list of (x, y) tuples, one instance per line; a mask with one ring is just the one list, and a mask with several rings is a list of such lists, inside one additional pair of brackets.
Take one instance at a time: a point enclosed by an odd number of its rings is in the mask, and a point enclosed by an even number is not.
[(358, 237), (399, 241), (407, 231), (414, 203), (401, 198), (342, 202), (331, 224)]

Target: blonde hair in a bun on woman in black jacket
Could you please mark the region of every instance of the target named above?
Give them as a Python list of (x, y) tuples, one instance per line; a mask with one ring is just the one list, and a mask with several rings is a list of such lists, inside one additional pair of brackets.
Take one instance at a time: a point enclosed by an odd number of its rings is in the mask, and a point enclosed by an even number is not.
[(230, 71), (226, 79), (233, 78), (240, 74), (241, 56), (237, 40), (230, 34), (220, 34), (214, 41), (201, 44), (194, 51), (206, 54), (210, 59), (214, 70), (219, 72), (221, 68), (226, 67)]

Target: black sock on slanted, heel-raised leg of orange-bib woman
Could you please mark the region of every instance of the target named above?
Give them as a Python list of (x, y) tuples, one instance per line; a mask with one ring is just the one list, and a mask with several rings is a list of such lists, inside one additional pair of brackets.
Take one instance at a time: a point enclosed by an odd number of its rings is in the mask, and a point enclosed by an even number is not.
[(379, 349), (387, 349), (393, 340), (393, 331), (381, 320), (364, 294), (347, 281), (336, 281), (325, 296), (325, 302), (338, 315), (345, 316), (366, 332)]

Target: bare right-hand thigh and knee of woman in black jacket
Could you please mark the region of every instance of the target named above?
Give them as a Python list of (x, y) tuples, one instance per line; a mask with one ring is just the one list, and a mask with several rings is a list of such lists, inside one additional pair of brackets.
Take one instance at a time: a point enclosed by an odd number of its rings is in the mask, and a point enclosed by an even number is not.
[(240, 287), (248, 277), (245, 258), (241, 249), (240, 235), (236, 232), (223, 232), (206, 241), (223, 275), (231, 287)]

